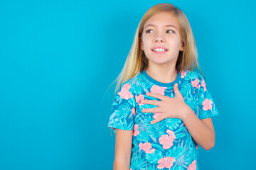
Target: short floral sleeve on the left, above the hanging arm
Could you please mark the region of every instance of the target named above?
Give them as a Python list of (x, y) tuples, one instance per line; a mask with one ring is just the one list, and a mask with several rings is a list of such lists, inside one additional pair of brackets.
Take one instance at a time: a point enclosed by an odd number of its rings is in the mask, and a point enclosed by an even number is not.
[(122, 84), (114, 96), (108, 128), (133, 130), (135, 111), (135, 95), (132, 84)]

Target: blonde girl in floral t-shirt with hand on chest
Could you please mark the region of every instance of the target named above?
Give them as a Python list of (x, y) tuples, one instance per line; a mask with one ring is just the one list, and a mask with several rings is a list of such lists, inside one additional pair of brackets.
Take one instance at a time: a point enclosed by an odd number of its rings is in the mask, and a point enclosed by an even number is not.
[(116, 132), (114, 170), (199, 169), (198, 145), (213, 148), (218, 110), (195, 65), (185, 14), (168, 3), (149, 8), (114, 94), (108, 122)]

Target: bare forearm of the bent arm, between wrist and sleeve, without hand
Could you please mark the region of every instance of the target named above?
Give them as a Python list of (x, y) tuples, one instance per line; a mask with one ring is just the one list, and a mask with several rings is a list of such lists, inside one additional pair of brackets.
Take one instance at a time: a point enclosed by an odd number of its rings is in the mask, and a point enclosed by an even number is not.
[(183, 123), (190, 132), (193, 140), (203, 149), (209, 150), (215, 145), (215, 131), (211, 118), (199, 119), (191, 110), (183, 115)]

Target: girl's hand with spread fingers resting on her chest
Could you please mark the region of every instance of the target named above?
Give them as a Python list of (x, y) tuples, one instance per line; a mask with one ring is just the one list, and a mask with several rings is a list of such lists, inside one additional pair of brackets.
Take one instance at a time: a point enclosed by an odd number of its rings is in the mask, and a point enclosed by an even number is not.
[(187, 113), (192, 111), (192, 109), (184, 102), (181, 92), (178, 91), (178, 84), (174, 84), (174, 93), (174, 98), (156, 93), (146, 93), (147, 96), (152, 96), (161, 100), (145, 99), (142, 101), (143, 104), (158, 106), (156, 108), (143, 108), (142, 112), (161, 113), (158, 118), (151, 121), (151, 124), (157, 123), (165, 118), (180, 118), (182, 120)]

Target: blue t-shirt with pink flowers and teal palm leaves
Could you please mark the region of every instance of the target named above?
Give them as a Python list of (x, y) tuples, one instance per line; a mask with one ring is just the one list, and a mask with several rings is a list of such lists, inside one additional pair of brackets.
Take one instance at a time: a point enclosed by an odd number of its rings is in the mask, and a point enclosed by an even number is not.
[(178, 83), (185, 103), (199, 119), (212, 118), (218, 110), (201, 74), (190, 70), (178, 72), (176, 80), (161, 83), (149, 77), (146, 71), (139, 72), (124, 82), (114, 97), (112, 113), (107, 127), (133, 130), (132, 153), (129, 169), (171, 169), (195, 170), (198, 167), (198, 145), (191, 137), (183, 121), (166, 118), (151, 125), (151, 120), (161, 113), (143, 113), (142, 108), (154, 108), (142, 104), (144, 99), (157, 100), (146, 96), (146, 92), (174, 97), (174, 84)]

